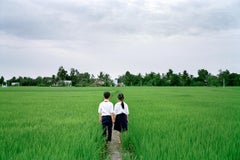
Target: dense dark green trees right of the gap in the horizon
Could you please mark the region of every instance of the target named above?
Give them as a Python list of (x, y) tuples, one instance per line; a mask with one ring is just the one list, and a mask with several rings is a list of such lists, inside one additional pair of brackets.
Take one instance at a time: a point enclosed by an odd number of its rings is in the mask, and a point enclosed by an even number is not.
[(240, 86), (240, 74), (220, 70), (215, 76), (205, 69), (200, 69), (198, 76), (194, 77), (186, 70), (177, 74), (169, 69), (165, 74), (151, 72), (142, 76), (127, 71), (118, 81), (126, 86)]

